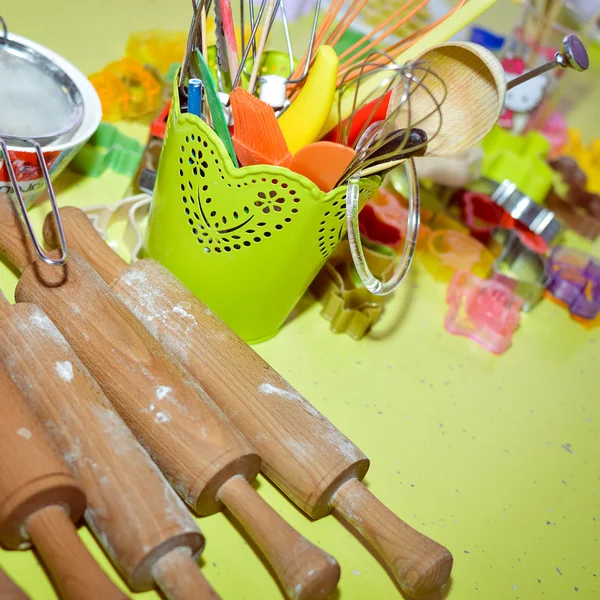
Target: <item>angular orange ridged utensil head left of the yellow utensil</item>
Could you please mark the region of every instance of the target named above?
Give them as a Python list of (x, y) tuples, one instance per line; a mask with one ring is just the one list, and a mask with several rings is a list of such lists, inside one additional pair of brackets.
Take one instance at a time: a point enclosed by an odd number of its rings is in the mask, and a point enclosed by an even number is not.
[(286, 167), (290, 151), (273, 109), (241, 87), (229, 95), (233, 113), (233, 147), (240, 163)]

